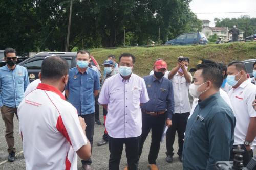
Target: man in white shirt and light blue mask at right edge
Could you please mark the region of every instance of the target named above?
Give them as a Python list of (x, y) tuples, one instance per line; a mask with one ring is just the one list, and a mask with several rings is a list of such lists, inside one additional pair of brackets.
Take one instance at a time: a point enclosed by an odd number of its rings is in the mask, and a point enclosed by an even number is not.
[[(233, 88), (228, 96), (233, 106), (237, 123), (234, 129), (233, 148), (238, 145), (244, 149), (243, 164), (246, 166), (253, 156), (252, 149), (256, 145), (256, 111), (251, 106), (256, 95), (256, 86), (247, 78), (246, 68), (243, 62), (233, 61), (228, 64), (227, 83)], [(233, 159), (232, 153), (230, 158)]]

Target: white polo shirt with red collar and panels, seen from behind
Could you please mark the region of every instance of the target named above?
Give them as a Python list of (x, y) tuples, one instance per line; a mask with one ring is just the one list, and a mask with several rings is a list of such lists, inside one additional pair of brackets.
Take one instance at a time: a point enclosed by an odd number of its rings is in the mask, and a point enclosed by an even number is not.
[(55, 87), (40, 83), (18, 107), (26, 169), (76, 169), (87, 138), (76, 109)]

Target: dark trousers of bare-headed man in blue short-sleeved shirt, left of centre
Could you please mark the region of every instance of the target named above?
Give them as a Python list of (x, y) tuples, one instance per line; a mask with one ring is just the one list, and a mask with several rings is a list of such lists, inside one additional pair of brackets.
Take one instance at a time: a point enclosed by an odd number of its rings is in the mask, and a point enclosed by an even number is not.
[[(95, 123), (95, 117), (94, 117), (94, 113), (92, 114), (87, 114), (87, 115), (79, 115), (82, 118), (84, 118), (84, 122), (86, 122), (86, 137), (87, 139), (90, 141), (91, 143), (91, 153), (93, 151), (93, 134), (94, 134), (94, 123)], [(91, 158), (89, 158), (88, 160), (81, 160), (83, 165), (90, 165), (92, 164), (92, 160)]]

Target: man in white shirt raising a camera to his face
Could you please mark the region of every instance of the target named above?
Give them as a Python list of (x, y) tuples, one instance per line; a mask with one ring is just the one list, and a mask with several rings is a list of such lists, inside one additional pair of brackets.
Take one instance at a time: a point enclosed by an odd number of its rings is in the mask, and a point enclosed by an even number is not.
[(190, 103), (188, 98), (188, 87), (191, 83), (192, 76), (187, 71), (189, 66), (189, 58), (180, 56), (178, 58), (177, 66), (174, 67), (168, 75), (168, 79), (172, 80), (174, 87), (174, 111), (172, 121), (173, 125), (168, 128), (166, 132), (166, 161), (173, 162), (174, 149), (173, 144), (175, 140), (176, 131), (178, 132), (179, 159), (182, 162), (182, 149), (184, 132), (186, 130), (187, 118), (190, 112)]

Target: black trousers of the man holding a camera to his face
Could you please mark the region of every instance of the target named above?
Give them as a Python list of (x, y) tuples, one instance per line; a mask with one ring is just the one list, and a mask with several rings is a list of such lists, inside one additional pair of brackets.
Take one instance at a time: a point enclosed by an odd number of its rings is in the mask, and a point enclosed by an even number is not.
[(184, 139), (184, 132), (186, 130), (187, 126), (187, 118), (189, 116), (189, 112), (187, 113), (175, 113), (172, 118), (173, 125), (168, 128), (166, 132), (166, 150), (167, 155), (174, 155), (174, 140), (175, 140), (175, 134), (176, 131), (178, 132), (178, 143), (179, 143), (179, 149), (178, 149), (178, 155), (182, 156), (182, 150), (183, 150), (183, 139)]

